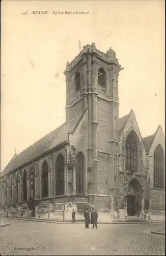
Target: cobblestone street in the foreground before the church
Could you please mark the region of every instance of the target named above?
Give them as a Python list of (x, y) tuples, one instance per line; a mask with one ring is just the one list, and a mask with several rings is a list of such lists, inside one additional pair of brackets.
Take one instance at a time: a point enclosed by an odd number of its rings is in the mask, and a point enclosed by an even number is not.
[[(165, 237), (150, 234), (164, 224), (52, 224), (8, 220), (1, 255), (164, 255)], [(91, 225), (90, 225), (91, 227)]]

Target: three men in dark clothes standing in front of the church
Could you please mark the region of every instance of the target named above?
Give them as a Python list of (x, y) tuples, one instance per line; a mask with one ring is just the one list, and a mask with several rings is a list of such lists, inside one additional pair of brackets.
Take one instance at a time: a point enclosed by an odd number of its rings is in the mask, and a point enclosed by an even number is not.
[[(84, 212), (84, 218), (85, 218), (85, 228), (89, 228), (89, 224), (93, 225), (92, 228), (97, 228), (98, 214), (94, 208), (92, 208), (91, 215), (90, 215), (89, 210), (87, 209)], [(73, 223), (75, 223), (75, 210), (74, 209), (72, 211), (72, 221), (73, 221)]]

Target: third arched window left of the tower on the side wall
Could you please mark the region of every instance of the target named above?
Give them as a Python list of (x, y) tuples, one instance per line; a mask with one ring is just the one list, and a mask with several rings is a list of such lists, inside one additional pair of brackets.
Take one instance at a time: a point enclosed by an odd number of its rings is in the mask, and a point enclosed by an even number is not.
[(48, 164), (46, 161), (42, 164), (42, 198), (48, 197)]

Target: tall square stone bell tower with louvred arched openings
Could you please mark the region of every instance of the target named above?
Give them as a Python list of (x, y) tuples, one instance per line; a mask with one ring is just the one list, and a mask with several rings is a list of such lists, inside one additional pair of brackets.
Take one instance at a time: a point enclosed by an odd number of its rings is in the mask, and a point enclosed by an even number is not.
[(92, 43), (67, 62), (64, 71), (67, 122), (88, 109), (87, 172), (93, 177), (88, 182), (89, 194), (110, 194), (108, 190), (114, 187), (119, 161), (118, 76), (122, 69), (112, 48), (103, 53)]

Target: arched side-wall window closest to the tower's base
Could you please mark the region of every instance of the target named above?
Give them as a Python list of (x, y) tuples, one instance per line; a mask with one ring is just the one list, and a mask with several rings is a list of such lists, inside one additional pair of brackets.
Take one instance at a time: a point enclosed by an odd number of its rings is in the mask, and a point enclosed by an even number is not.
[(84, 194), (84, 155), (76, 155), (76, 194)]

